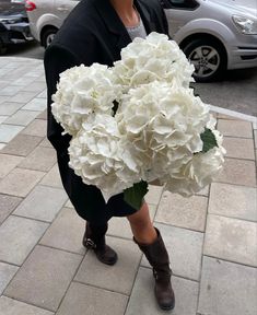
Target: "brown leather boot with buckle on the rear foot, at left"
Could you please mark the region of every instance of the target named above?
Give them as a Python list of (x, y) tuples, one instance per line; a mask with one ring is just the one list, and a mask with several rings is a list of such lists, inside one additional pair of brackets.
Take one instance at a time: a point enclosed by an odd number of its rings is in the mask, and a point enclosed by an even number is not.
[(113, 248), (105, 244), (105, 233), (107, 229), (107, 223), (104, 225), (92, 225), (86, 222), (82, 244), (86, 248), (93, 249), (101, 262), (114, 265), (117, 261), (118, 256)]

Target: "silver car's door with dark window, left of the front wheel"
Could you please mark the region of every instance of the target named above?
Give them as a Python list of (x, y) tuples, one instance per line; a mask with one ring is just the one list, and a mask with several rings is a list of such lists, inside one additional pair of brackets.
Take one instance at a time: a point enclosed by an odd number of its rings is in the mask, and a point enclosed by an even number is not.
[(194, 20), (196, 11), (200, 5), (199, 0), (162, 0), (168, 22), (170, 35), (174, 38), (175, 34), (188, 21)]

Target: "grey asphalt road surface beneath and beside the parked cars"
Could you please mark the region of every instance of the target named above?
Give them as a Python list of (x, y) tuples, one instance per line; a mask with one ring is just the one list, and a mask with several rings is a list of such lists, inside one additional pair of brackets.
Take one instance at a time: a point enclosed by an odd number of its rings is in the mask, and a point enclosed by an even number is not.
[[(28, 43), (12, 47), (5, 56), (43, 59), (44, 48)], [(221, 82), (194, 83), (194, 86), (206, 103), (257, 117), (257, 68), (227, 71)]]

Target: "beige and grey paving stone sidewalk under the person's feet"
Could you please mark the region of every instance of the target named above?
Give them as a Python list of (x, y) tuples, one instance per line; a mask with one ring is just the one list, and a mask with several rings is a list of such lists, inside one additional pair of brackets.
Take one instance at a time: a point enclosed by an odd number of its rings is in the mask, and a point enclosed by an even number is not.
[[(159, 315), (152, 272), (125, 218), (109, 222), (116, 266), (81, 238), (46, 139), (40, 60), (0, 58), (0, 315)], [(224, 172), (189, 199), (151, 186), (147, 200), (173, 268), (173, 315), (256, 315), (257, 124), (217, 114)]]

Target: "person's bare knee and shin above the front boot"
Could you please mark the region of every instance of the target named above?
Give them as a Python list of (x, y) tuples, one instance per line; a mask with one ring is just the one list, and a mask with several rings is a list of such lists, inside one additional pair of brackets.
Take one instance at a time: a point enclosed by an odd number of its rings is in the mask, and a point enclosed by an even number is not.
[(157, 234), (151, 222), (147, 202), (143, 202), (141, 209), (135, 214), (128, 215), (127, 219), (137, 242), (151, 244), (156, 240)]

